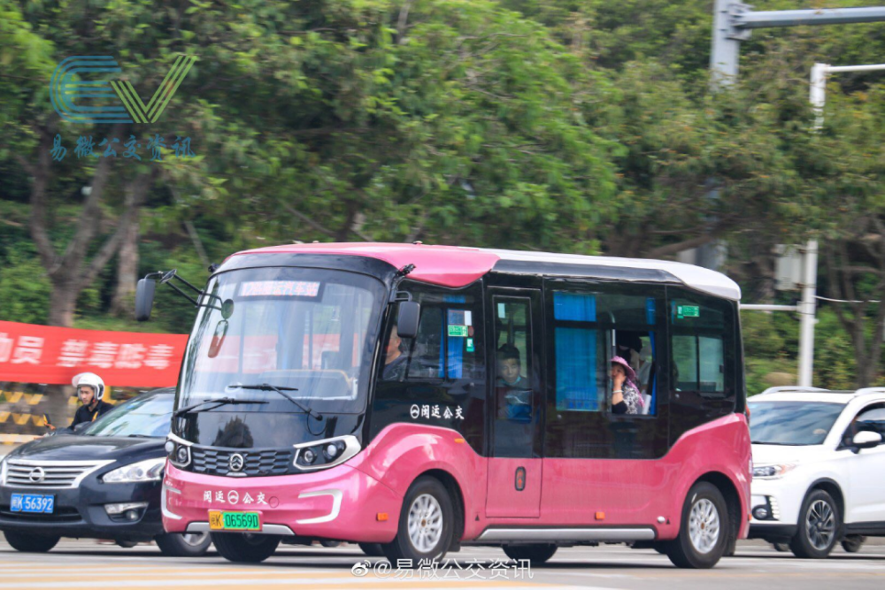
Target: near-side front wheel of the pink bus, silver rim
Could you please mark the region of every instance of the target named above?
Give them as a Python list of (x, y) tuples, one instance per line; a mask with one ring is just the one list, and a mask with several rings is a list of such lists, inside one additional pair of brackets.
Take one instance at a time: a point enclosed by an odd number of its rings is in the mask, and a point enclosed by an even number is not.
[(438, 561), (451, 545), (455, 509), (439, 479), (423, 476), (405, 494), (393, 541), (381, 546), (390, 563), (418, 567), (421, 560)]

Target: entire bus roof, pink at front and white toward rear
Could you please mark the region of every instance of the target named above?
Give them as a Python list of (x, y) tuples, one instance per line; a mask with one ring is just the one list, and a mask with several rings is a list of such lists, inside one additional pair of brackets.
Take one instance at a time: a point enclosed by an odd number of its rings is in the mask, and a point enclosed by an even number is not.
[[(236, 254), (274, 253), (372, 257), (391, 264), (397, 269), (406, 264), (414, 264), (415, 269), (409, 274), (410, 279), (444, 287), (464, 287), (492, 271), (569, 276), (573, 272), (565, 272), (563, 267), (567, 266), (571, 269), (578, 269), (581, 276), (605, 278), (608, 273), (595, 273), (593, 267), (596, 269), (621, 269), (625, 273), (621, 273), (620, 278), (625, 280), (658, 280), (682, 283), (687, 287), (718, 297), (734, 301), (741, 299), (741, 287), (738, 287), (734, 280), (720, 272), (692, 264), (643, 258), (595, 257), (382, 242), (285, 244), (245, 250)], [(650, 275), (649, 272), (653, 272), (653, 275)], [(655, 276), (657, 279), (649, 279), (650, 276)]]

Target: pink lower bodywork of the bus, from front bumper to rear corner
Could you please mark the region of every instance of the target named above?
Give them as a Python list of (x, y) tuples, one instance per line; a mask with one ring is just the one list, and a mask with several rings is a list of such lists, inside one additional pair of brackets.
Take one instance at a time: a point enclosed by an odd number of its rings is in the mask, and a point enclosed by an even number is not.
[[(464, 540), (478, 537), (492, 525), (653, 526), (659, 539), (679, 532), (681, 508), (691, 485), (704, 474), (717, 472), (729, 479), (741, 500), (741, 528), (748, 531), (746, 514), (750, 502), (750, 438), (741, 414), (720, 418), (685, 433), (666, 456), (656, 460), (530, 459), (528, 473), (540, 473), (535, 462), (543, 461), (540, 516), (535, 517), (537, 484), (527, 479), (526, 501), (491, 502), (489, 496), (521, 494), (514, 490), (513, 473), (519, 459), (488, 459), (478, 455), (461, 435), (447, 428), (395, 424), (385, 428), (372, 443), (347, 464), (312, 473), (266, 478), (227, 478), (181, 471), (167, 465), (165, 486), (181, 491), (167, 493), (166, 507), (181, 519), (164, 517), (166, 531), (180, 533), (190, 522), (206, 522), (208, 510), (258, 510), (262, 523), (287, 525), (308, 537), (387, 542), (396, 536), (403, 498), (420, 474), (445, 471), (456, 482), (464, 502)], [(501, 462), (489, 471), (489, 462)], [(300, 494), (341, 490), (341, 510), (334, 520), (298, 524), (298, 520), (324, 517), (332, 509), (331, 495), (299, 498)], [(239, 503), (206, 502), (204, 494), (221, 492), (227, 499), (235, 490)], [(242, 503), (244, 494), (254, 499), (265, 494), (267, 505)], [(272, 500), (275, 499), (275, 500)], [(273, 503), (277, 502), (276, 506)], [(605, 513), (603, 522), (596, 511)], [(376, 515), (389, 519), (379, 522)], [(499, 515), (499, 516), (491, 516)], [(658, 524), (658, 517), (667, 519)]]

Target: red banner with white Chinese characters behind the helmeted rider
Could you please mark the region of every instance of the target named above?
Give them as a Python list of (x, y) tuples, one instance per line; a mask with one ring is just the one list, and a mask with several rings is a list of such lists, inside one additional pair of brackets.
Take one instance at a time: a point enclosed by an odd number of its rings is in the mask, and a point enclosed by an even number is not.
[(109, 386), (178, 382), (186, 334), (104, 332), (0, 322), (0, 380), (70, 385), (94, 372)]

